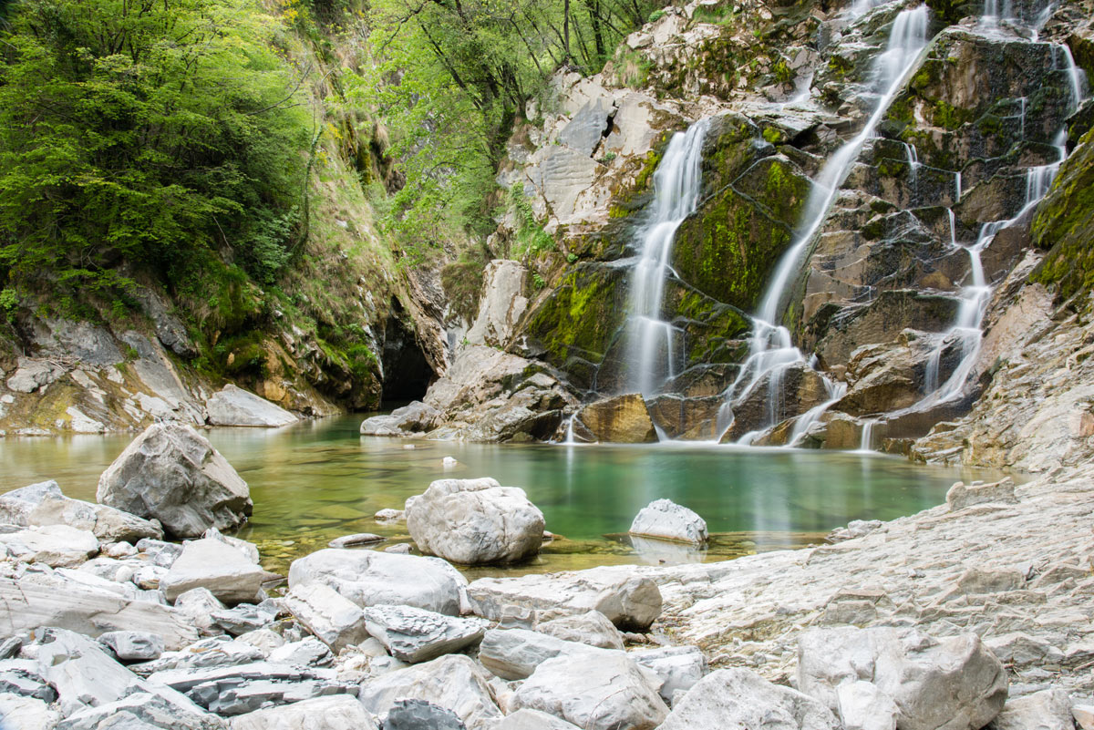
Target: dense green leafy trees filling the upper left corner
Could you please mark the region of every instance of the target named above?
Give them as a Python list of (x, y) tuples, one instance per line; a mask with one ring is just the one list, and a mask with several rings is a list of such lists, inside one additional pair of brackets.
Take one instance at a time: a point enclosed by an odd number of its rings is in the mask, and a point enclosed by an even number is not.
[(310, 120), (257, 0), (25, 0), (0, 44), (0, 269), (118, 292), (290, 259)]

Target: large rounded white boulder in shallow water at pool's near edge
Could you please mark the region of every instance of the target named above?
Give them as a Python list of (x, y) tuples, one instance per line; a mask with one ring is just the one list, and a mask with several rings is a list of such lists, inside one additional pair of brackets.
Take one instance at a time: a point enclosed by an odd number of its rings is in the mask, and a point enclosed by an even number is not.
[(407, 505), (407, 529), (422, 552), (454, 563), (513, 563), (539, 552), (544, 515), (522, 488), (441, 479)]

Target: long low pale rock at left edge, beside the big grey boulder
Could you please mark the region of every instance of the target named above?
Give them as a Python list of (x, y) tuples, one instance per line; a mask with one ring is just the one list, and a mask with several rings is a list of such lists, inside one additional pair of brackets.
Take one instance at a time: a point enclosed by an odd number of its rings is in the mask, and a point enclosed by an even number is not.
[(136, 543), (142, 538), (160, 539), (163, 530), (136, 515), (71, 499), (61, 493), (57, 482), (39, 482), (0, 495), (0, 522), (20, 527), (68, 525), (89, 530), (103, 542)]

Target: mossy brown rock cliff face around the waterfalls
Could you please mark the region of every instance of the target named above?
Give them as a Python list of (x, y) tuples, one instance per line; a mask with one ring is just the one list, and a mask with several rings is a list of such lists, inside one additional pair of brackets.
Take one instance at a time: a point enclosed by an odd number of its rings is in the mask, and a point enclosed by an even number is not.
[[(586, 402), (632, 388), (654, 173), (674, 132), (710, 119), (702, 192), (667, 260), (664, 377), (643, 393), (664, 436), (907, 451), (933, 428), (923, 458), (1024, 468), (1044, 467), (1023, 456), (1031, 409), (1074, 422), (1045, 438), (1087, 438), (1078, 390), (1052, 390), (1054, 404), (1008, 393), (1056, 388), (1059, 367), (1033, 365), (1039, 342), (1075, 375), (1085, 362), (1091, 8), (928, 4), (929, 43), (888, 95), (901, 2), (691, 2), (629, 36), (602, 73), (556, 76), (499, 175), (556, 248), (524, 257), (521, 311), (497, 345)], [(811, 192), (864, 129), (803, 231)], [(511, 211), (493, 243), (521, 225)], [(755, 367), (757, 337), (773, 337), (756, 314), (799, 240), (770, 322), (790, 340), (778, 352), (798, 355)], [(500, 290), (486, 291), (482, 311)]]

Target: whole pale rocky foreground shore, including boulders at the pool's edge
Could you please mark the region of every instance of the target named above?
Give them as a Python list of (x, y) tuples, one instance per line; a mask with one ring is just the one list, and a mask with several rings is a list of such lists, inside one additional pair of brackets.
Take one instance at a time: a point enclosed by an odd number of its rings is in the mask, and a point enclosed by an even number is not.
[[(7, 730), (1092, 727), (1092, 468), (957, 484), (819, 548), (473, 582), (444, 557), (521, 560), (542, 514), (441, 480), (406, 514), (439, 556), (331, 548), (282, 589), (220, 531), (249, 499), (211, 447), (186, 458), (203, 440), (151, 427), (106, 504), (49, 482), (0, 496)], [(141, 515), (109, 504), (137, 462), (164, 497)], [(631, 530), (706, 539), (667, 501)]]

